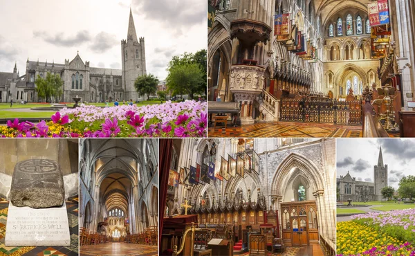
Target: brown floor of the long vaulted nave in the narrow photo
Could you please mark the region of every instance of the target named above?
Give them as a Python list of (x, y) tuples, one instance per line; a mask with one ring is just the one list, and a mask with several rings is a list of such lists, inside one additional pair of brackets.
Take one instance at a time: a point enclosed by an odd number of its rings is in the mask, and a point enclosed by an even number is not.
[(97, 244), (94, 246), (81, 246), (80, 255), (143, 255), (143, 256), (156, 256), (157, 246), (145, 246), (142, 244), (126, 244), (124, 242), (119, 243), (107, 243)]

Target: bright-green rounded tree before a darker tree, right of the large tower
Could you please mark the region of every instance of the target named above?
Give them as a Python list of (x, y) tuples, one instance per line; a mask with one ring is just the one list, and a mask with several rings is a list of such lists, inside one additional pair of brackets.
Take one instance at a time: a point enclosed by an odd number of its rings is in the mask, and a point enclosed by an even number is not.
[(172, 66), (166, 78), (167, 88), (172, 95), (187, 94), (191, 100), (195, 93), (202, 93), (203, 82), (203, 72), (196, 63)]

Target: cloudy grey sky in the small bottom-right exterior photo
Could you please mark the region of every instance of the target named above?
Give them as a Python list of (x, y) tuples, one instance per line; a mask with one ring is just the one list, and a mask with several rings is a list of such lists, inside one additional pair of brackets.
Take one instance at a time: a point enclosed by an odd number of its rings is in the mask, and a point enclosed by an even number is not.
[(380, 146), (388, 165), (388, 185), (397, 189), (403, 176), (415, 175), (415, 139), (348, 138), (337, 140), (337, 177), (349, 171), (358, 181), (373, 182)]

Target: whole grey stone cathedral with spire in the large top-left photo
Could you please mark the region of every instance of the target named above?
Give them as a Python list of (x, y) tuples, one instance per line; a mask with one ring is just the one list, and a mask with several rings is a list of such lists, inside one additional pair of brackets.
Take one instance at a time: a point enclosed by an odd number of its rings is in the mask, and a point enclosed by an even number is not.
[(146, 74), (144, 37), (138, 39), (130, 9), (127, 39), (121, 41), (122, 69), (98, 68), (89, 66), (79, 53), (73, 60), (64, 60), (64, 64), (55, 62), (26, 62), (26, 74), (19, 75), (17, 67), (13, 73), (0, 72), (0, 102), (40, 102), (42, 99), (35, 91), (37, 75), (59, 74), (64, 83), (62, 98), (57, 102), (73, 102), (80, 97), (86, 102), (104, 102), (105, 100), (144, 100), (138, 95), (134, 81)]

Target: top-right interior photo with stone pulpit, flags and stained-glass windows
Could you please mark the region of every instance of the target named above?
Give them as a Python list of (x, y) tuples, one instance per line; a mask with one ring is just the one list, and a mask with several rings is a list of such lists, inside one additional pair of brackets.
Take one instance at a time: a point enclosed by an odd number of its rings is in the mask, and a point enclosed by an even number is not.
[[(225, 112), (242, 127), (215, 122), (210, 136), (413, 136), (413, 1), (208, 3), (210, 119)], [(276, 131), (287, 123), (308, 131)], [(349, 131), (331, 129), (340, 126)]]

